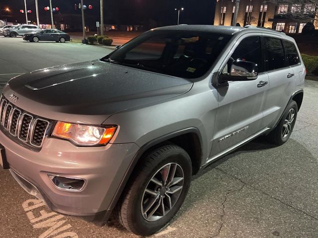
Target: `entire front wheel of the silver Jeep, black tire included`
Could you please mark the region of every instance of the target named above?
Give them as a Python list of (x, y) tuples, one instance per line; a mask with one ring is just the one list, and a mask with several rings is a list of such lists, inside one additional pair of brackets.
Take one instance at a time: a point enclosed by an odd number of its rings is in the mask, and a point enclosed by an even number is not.
[[(115, 212), (128, 231), (139, 236), (149, 236), (167, 224), (181, 207), (189, 190), (192, 165), (187, 152), (176, 145), (159, 147), (142, 162), (140, 166), (137, 165), (138, 170), (134, 172)], [(162, 173), (168, 176), (163, 177)], [(164, 178), (167, 178), (166, 185), (160, 182)], [(164, 209), (162, 201), (166, 205)]]

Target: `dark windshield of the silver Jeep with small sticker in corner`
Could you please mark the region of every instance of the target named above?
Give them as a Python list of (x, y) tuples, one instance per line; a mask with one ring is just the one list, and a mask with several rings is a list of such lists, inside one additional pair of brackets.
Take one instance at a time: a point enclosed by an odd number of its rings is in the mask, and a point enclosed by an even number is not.
[(229, 42), (230, 35), (157, 30), (145, 33), (102, 60), (167, 75), (204, 75)]

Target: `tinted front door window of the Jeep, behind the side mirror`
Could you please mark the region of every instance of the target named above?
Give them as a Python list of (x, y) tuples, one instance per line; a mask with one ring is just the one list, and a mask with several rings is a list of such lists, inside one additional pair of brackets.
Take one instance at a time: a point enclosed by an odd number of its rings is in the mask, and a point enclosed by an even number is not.
[(247, 37), (243, 39), (232, 54), (229, 63), (226, 65), (226, 69), (224, 69), (224, 72), (230, 73), (232, 62), (236, 60), (256, 63), (258, 65), (258, 72), (262, 72), (262, 51), (260, 38)]

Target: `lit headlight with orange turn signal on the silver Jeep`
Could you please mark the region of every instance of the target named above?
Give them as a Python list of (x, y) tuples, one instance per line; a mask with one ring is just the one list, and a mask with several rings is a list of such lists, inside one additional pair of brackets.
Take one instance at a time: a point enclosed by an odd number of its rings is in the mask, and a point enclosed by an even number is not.
[(53, 136), (73, 141), (83, 146), (105, 145), (113, 137), (116, 126), (97, 127), (58, 121)]

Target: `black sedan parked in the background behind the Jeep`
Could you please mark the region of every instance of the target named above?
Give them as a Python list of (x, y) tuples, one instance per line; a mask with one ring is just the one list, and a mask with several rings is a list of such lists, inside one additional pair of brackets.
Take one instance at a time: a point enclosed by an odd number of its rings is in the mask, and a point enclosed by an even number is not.
[(39, 41), (55, 41), (65, 43), (70, 41), (69, 34), (54, 30), (54, 29), (44, 29), (40, 32), (33, 32), (23, 35), (23, 40), (30, 42), (39, 42)]

